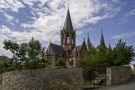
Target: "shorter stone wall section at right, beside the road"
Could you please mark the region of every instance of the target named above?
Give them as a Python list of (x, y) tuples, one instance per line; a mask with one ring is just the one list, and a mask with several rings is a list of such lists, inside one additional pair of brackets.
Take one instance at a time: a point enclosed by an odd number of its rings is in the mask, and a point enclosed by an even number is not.
[(130, 66), (118, 66), (107, 68), (107, 85), (115, 85), (128, 81), (131, 78), (132, 70)]

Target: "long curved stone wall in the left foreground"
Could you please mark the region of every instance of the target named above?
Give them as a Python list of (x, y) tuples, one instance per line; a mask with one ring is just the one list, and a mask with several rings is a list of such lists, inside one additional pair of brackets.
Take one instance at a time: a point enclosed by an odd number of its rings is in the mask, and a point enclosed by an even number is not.
[(82, 70), (11, 71), (2, 75), (1, 90), (81, 90)]

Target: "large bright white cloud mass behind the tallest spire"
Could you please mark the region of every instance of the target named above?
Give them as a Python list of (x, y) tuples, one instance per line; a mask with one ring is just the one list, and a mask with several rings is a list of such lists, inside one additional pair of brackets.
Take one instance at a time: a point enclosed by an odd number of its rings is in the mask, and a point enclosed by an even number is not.
[[(32, 3), (32, 0), (30, 1)], [(112, 18), (120, 11), (120, 7), (115, 7), (107, 2), (102, 3), (99, 0), (40, 0), (40, 2), (42, 5), (46, 3), (49, 8), (32, 8), (33, 12), (37, 12), (34, 14), (38, 15), (38, 18), (35, 18), (30, 24), (23, 23), (22, 26), (26, 29), (34, 28), (32, 34), (37, 33), (39, 36), (37, 34), (33, 36), (40, 37), (40, 39), (46, 38), (44, 40), (47, 41), (59, 41), (59, 33), (64, 24), (68, 3), (75, 29)], [(100, 15), (100, 12), (104, 13)]]

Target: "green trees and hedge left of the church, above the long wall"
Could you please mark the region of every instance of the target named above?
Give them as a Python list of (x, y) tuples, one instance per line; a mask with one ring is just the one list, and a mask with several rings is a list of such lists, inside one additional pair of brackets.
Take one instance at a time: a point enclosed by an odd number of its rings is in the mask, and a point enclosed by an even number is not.
[(13, 57), (8, 62), (0, 64), (0, 73), (16, 69), (38, 69), (48, 66), (43, 60), (44, 48), (34, 38), (27, 43), (18, 44), (11, 40), (5, 40), (3, 44), (3, 48), (11, 51)]

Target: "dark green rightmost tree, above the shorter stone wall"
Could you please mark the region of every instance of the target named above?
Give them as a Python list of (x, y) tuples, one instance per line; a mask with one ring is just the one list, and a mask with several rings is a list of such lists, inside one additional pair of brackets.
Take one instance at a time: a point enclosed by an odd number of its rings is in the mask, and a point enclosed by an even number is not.
[(114, 48), (114, 65), (126, 65), (130, 64), (133, 61), (135, 56), (135, 51), (133, 46), (127, 46), (126, 42), (123, 42), (121, 39), (118, 40), (116, 47)]

